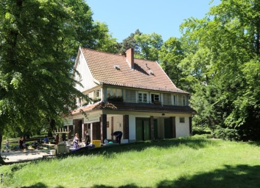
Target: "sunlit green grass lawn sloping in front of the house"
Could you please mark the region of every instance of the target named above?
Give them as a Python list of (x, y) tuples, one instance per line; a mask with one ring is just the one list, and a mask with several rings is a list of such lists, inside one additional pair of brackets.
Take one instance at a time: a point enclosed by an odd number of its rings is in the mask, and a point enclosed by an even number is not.
[(180, 138), (0, 167), (6, 187), (260, 187), (257, 144)]

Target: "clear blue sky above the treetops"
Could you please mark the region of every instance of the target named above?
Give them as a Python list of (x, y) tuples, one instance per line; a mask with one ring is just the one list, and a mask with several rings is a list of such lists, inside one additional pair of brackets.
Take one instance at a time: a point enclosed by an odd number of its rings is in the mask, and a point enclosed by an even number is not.
[[(179, 25), (189, 17), (203, 18), (220, 0), (86, 0), (93, 19), (106, 22), (112, 36), (121, 42), (137, 29), (169, 37), (180, 37)], [(211, 4), (210, 4), (211, 3)]]

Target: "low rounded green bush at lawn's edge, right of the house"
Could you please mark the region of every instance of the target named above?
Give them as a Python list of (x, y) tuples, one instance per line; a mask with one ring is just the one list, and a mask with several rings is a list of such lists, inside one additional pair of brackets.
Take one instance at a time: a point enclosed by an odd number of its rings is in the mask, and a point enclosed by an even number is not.
[(213, 133), (214, 137), (217, 139), (238, 141), (241, 140), (241, 136), (238, 133), (238, 130), (231, 128), (218, 128)]

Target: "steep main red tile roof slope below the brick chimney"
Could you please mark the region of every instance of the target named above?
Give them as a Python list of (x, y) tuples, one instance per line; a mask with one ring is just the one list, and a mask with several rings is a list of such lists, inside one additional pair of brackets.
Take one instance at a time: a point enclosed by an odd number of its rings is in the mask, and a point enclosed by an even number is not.
[[(176, 88), (156, 61), (135, 59), (135, 69), (131, 69), (125, 56), (81, 49), (93, 77), (100, 84), (189, 94)], [(116, 69), (115, 65), (120, 68)]]

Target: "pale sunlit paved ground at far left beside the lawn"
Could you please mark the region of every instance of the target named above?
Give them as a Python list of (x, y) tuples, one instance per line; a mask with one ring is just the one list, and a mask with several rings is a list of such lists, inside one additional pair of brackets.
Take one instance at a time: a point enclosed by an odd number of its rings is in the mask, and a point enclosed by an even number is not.
[(42, 158), (43, 155), (50, 155), (49, 152), (23, 152), (23, 151), (9, 151), (9, 152), (1, 152), (2, 157), (6, 157), (5, 162), (23, 162), (28, 160), (34, 160), (38, 158)]

